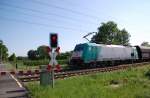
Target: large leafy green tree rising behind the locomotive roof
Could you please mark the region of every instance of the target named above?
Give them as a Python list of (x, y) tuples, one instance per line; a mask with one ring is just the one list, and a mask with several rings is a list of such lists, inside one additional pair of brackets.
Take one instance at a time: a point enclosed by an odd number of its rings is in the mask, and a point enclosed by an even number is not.
[(102, 23), (98, 28), (98, 33), (94, 35), (91, 42), (102, 44), (129, 45), (130, 34), (125, 30), (120, 30), (113, 21)]

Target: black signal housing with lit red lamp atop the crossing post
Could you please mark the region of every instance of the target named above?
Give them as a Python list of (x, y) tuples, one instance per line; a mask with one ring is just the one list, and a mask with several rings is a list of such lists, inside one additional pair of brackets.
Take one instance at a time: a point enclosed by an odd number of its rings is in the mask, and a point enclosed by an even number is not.
[(50, 46), (51, 48), (57, 48), (58, 46), (58, 35), (56, 33), (50, 34)]

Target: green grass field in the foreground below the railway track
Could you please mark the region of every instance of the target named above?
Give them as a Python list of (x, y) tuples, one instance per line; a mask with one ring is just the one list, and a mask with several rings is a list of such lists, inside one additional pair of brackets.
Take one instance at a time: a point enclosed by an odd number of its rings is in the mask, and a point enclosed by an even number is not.
[[(150, 98), (150, 66), (56, 80), (55, 88), (27, 83), (33, 98)], [(148, 74), (150, 76), (150, 73)]]

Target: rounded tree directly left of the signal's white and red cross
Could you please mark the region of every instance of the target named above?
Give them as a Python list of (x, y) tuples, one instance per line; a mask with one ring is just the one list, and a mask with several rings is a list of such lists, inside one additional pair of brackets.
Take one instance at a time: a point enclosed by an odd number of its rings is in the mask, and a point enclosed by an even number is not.
[(48, 46), (42, 45), (37, 48), (37, 53), (40, 59), (48, 59), (49, 54), (47, 52)]

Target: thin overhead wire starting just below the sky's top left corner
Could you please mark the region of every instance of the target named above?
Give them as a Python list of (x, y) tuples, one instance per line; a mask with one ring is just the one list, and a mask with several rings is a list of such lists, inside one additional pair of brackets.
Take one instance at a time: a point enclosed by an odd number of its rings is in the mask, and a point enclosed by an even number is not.
[(56, 17), (59, 17), (59, 18), (62, 18), (62, 19), (67, 19), (67, 20), (74, 21), (74, 22), (78, 22), (78, 21), (81, 22), (82, 21), (82, 22), (86, 22), (86, 23), (89, 23), (89, 24), (97, 25), (97, 23), (92, 22), (92, 21), (85, 21), (85, 20), (81, 20), (81, 19), (76, 19), (76, 18), (63, 16), (63, 15), (52, 13), (52, 12), (44, 12), (44, 11), (37, 10), (37, 9), (31, 9), (31, 8), (27, 8), (27, 7), (22, 7), (22, 6), (8, 4), (6, 2), (5, 3), (3, 2), (1, 4), (2, 4), (2, 6), (7, 6), (7, 7), (11, 7), (11, 8), (17, 8), (17, 9), (22, 9), (22, 10), (28, 10), (28, 11), (31, 11), (31, 12), (42, 13), (42, 14), (46, 14), (46, 15), (50, 15), (50, 16), (56, 16)]

